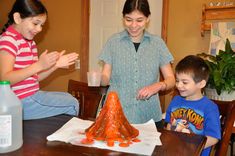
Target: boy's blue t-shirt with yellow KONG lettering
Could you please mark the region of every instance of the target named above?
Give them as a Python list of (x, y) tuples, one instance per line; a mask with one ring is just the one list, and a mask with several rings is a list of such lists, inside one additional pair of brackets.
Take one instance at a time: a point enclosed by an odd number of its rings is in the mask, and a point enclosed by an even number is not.
[[(171, 129), (198, 135), (221, 138), (220, 117), (218, 106), (206, 96), (200, 100), (185, 100), (175, 96), (166, 111), (167, 123)], [(211, 147), (202, 151), (202, 156), (210, 154)]]

